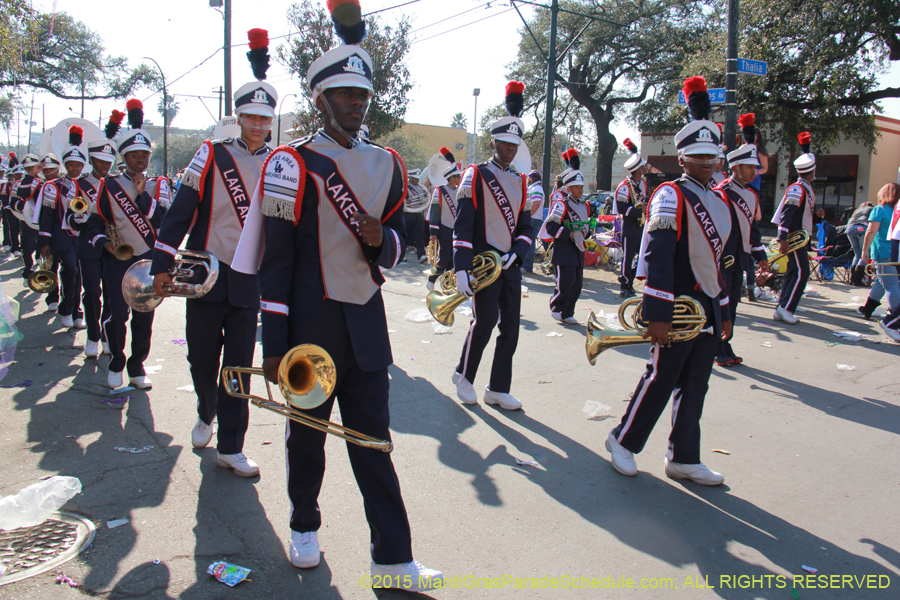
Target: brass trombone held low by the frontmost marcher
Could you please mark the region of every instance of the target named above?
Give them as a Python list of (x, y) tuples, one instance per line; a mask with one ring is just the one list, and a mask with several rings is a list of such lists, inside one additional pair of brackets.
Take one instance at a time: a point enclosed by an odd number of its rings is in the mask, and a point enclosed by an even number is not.
[(268, 379), (266, 379), (268, 400), (250, 394), (244, 383), (245, 378), (241, 375), (265, 377), (265, 372), (256, 367), (223, 367), (222, 383), (229, 396), (246, 398), (254, 406), (278, 413), (313, 429), (336, 435), (363, 448), (382, 452), (390, 452), (394, 449), (394, 445), (386, 440), (379, 440), (343, 425), (301, 412), (321, 406), (331, 396), (337, 382), (334, 361), (320, 346), (313, 344), (295, 346), (281, 359), (281, 364), (278, 365), (278, 388), (287, 400), (287, 404), (276, 402), (272, 398), (272, 389), (269, 387)]

